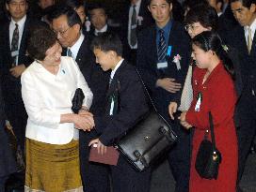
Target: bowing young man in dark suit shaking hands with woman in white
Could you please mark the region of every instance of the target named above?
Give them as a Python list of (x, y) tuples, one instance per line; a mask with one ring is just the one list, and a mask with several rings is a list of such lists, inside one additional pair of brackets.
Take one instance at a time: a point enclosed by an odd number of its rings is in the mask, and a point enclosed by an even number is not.
[[(97, 143), (98, 153), (104, 155), (106, 146), (119, 140), (145, 115), (148, 103), (135, 67), (130, 66), (121, 56), (122, 45), (117, 35), (106, 32), (95, 37), (92, 48), (96, 62), (102, 69), (111, 69), (105, 113), (93, 116), (95, 130), (100, 137), (89, 142), (89, 145)], [(113, 191), (150, 191), (150, 169), (138, 172), (122, 155), (119, 155), (117, 166), (109, 166), (109, 169)], [(98, 191), (97, 188), (95, 191)]]

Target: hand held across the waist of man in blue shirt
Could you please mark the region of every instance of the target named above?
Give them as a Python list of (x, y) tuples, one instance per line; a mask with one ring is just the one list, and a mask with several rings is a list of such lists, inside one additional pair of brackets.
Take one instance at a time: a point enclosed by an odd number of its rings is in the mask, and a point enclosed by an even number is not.
[(156, 81), (156, 85), (162, 87), (167, 90), (169, 93), (175, 94), (180, 91), (182, 88), (182, 84), (179, 82), (175, 82), (173, 78), (164, 78)]

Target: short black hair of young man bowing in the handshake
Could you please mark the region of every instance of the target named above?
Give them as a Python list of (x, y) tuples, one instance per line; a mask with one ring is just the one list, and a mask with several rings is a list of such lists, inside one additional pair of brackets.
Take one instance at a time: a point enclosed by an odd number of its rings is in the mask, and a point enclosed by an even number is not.
[(94, 37), (91, 45), (91, 50), (99, 49), (102, 52), (117, 52), (119, 56), (122, 55), (122, 44), (120, 37), (111, 32), (105, 32), (100, 36)]

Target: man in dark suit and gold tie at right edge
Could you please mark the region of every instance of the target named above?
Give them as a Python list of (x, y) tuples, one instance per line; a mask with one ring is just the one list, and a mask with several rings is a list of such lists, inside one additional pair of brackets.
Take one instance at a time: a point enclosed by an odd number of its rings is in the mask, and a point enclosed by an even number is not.
[(243, 92), (237, 103), (239, 167), (237, 184), (242, 178), (249, 148), (256, 130), (256, 1), (232, 0), (232, 13), (239, 26), (225, 37), (228, 44), (239, 52)]

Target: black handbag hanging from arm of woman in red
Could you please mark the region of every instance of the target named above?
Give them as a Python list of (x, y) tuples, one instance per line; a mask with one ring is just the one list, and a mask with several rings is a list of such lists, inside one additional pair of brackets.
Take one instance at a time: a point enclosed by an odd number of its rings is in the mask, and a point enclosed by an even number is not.
[(212, 141), (208, 140), (208, 130), (204, 140), (200, 143), (199, 152), (196, 158), (195, 168), (204, 179), (217, 179), (218, 167), (221, 163), (221, 154), (216, 149), (214, 123), (212, 113), (209, 112), (209, 122)]

